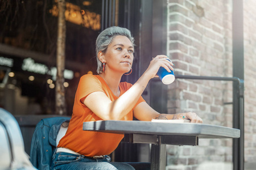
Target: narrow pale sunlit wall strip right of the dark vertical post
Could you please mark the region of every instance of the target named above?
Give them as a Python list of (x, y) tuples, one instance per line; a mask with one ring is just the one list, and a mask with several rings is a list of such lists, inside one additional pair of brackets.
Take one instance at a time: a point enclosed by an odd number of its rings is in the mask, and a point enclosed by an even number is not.
[[(256, 1), (243, 2), (245, 46), (245, 162), (256, 160)], [(256, 163), (255, 163), (256, 164)], [(255, 165), (254, 165), (255, 169)]]

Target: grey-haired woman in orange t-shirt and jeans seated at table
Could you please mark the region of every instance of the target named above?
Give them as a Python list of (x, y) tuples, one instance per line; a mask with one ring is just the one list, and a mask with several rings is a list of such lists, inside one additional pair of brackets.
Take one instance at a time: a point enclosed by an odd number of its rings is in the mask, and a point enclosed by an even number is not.
[[(126, 28), (110, 27), (96, 40), (99, 75), (84, 75), (77, 87), (73, 114), (67, 133), (53, 155), (55, 169), (134, 169), (126, 163), (109, 162), (109, 155), (121, 142), (122, 134), (83, 131), (82, 123), (97, 120), (133, 120), (186, 118), (202, 122), (196, 113), (160, 114), (141, 97), (148, 81), (160, 66), (174, 70), (167, 56), (156, 56), (134, 85), (120, 83), (133, 65), (134, 39)], [(149, 164), (146, 165), (149, 168)], [(146, 169), (146, 168), (145, 168)]]

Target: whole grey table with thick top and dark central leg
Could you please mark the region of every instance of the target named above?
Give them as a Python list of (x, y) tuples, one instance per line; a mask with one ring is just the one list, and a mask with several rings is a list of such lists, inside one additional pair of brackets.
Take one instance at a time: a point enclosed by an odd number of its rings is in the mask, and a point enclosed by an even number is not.
[(199, 138), (240, 138), (240, 130), (207, 124), (150, 121), (84, 122), (82, 130), (125, 134), (124, 141), (151, 143), (151, 169), (166, 169), (166, 145), (199, 145)]

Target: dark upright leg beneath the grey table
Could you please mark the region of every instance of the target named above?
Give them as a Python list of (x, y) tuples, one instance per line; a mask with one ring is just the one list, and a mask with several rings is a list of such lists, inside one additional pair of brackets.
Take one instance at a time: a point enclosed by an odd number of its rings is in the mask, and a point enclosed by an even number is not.
[(151, 170), (166, 169), (166, 145), (151, 145)]

